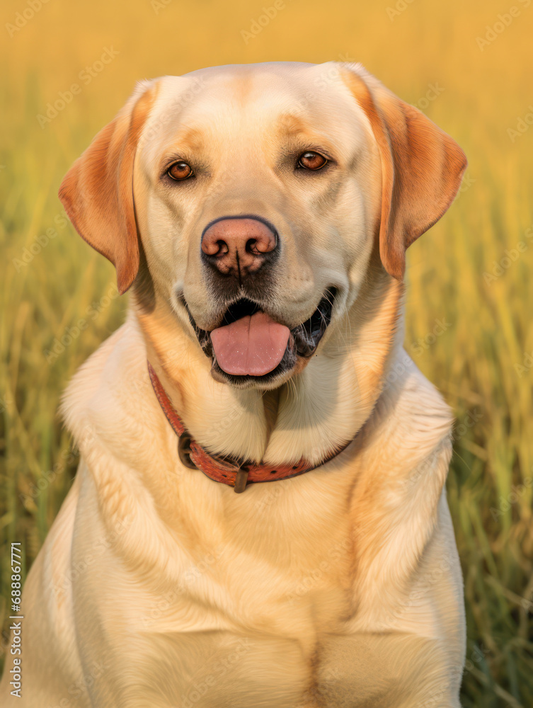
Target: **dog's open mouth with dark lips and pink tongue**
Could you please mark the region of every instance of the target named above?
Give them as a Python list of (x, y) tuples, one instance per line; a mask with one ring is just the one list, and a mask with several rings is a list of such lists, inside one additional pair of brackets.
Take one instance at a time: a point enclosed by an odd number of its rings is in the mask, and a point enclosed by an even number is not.
[(231, 304), (212, 331), (200, 329), (190, 317), (202, 350), (212, 360), (213, 377), (233, 384), (267, 383), (291, 370), (298, 357), (311, 357), (330, 324), (336, 294), (329, 287), (311, 317), (292, 329), (246, 297)]

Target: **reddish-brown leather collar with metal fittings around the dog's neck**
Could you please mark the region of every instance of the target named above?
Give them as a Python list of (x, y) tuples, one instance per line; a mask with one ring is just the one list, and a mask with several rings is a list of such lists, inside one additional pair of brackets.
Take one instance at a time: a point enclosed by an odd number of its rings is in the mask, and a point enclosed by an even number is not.
[(150, 362), (148, 362), (148, 372), (161, 410), (164, 412), (168, 423), (171, 424), (174, 433), (178, 435), (178, 454), (181, 462), (191, 469), (200, 469), (200, 472), (203, 472), (214, 481), (232, 486), (236, 493), (243, 492), (246, 489), (246, 484), (252, 482), (272, 482), (277, 479), (289, 479), (305, 472), (311, 472), (311, 469), (321, 467), (321, 465), (336, 457), (351, 442), (351, 440), (348, 441), (346, 445), (333, 452), (333, 455), (314, 466), (311, 466), (303, 458), (296, 464), (271, 465), (263, 462), (255, 464), (231, 457), (210, 455), (193, 440), (187, 428), (183, 425), (183, 421), (176, 413), (176, 409), (171, 404), (170, 399), (168, 399), (165, 389)]

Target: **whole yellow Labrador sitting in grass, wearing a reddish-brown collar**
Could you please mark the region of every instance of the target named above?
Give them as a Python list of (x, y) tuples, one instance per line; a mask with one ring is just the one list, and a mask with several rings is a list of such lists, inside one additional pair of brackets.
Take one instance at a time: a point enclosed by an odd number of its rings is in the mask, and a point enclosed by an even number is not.
[(2, 704), (459, 707), (452, 416), (401, 281), (465, 166), (360, 65), (138, 86), (59, 193), (130, 311), (64, 397)]

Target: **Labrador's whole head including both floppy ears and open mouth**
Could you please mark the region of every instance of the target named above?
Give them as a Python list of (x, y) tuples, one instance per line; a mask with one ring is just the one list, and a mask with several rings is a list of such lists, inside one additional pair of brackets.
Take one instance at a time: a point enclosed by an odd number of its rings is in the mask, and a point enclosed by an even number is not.
[(256, 64), (139, 85), (59, 196), (120, 292), (148, 280), (215, 379), (268, 389), (341, 326), (373, 251), (403, 278), (465, 167), (358, 66)]

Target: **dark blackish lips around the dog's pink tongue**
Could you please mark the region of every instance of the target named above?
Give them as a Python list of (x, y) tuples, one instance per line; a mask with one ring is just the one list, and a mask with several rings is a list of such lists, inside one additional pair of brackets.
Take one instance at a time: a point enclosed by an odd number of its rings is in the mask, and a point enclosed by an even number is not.
[[(314, 310), (313, 314), (311, 314), (309, 319), (306, 319), (304, 322), (298, 324), (297, 326), (289, 328), (290, 338), (287, 343), (287, 349), (295, 351), (295, 353), (302, 358), (309, 358), (314, 354), (316, 348), (319, 346), (321, 338), (326, 333), (326, 329), (328, 329), (328, 326), (331, 322), (333, 304), (335, 303), (337, 292), (338, 290), (336, 287), (330, 286), (326, 288), (323, 293), (323, 296), (319, 301), (319, 304), (316, 306), (316, 309)], [(211, 342), (211, 332), (213, 331), (213, 329), (217, 329), (217, 327), (222, 326), (224, 322), (226, 324), (230, 324), (231, 321), (236, 321), (236, 319), (239, 319), (239, 317), (234, 316), (234, 312), (239, 307), (239, 305), (245, 305), (245, 309), (248, 309), (248, 312), (244, 312), (241, 316), (250, 314), (252, 310), (253, 312), (266, 312), (270, 315), (268, 309), (265, 309), (265, 307), (263, 307), (261, 304), (258, 304), (251, 299), (241, 297), (235, 302), (231, 303), (229, 307), (227, 307), (227, 309), (224, 311), (224, 314), (222, 314), (219, 324), (217, 324), (216, 327), (213, 327), (211, 330), (205, 330), (197, 326), (195, 319), (191, 314), (190, 309), (188, 308), (185, 297), (181, 296), (180, 301), (184, 304), (185, 309), (187, 310), (190, 319), (190, 324), (193, 326), (197, 340), (200, 343), (203, 352), (211, 360), (214, 359), (213, 347)], [(273, 319), (275, 321), (279, 321), (279, 319), (275, 317), (273, 317)], [(285, 323), (280, 322), (280, 324)]]

